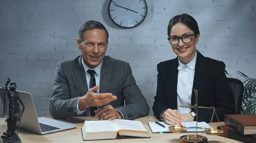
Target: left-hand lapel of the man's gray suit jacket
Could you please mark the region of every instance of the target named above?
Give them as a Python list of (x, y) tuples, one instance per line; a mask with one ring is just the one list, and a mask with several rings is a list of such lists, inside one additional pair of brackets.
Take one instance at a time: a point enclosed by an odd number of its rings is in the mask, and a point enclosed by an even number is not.
[(82, 56), (79, 57), (78, 61), (75, 64), (75, 76), (76, 81), (78, 82), (81, 96), (84, 96), (88, 92), (88, 85), (86, 81), (84, 67), (81, 60)]

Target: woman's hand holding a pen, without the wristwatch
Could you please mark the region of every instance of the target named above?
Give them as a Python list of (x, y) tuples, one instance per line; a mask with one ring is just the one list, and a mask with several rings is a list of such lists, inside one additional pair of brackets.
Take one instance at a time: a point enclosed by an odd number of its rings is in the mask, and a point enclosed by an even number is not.
[(167, 125), (175, 125), (182, 123), (181, 121), (181, 115), (177, 110), (167, 109), (163, 114), (161, 115), (163, 120)]

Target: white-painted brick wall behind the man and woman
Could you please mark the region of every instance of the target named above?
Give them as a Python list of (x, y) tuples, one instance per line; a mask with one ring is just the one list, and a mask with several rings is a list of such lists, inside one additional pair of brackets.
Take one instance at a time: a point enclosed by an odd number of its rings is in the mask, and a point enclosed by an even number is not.
[[(55, 66), (80, 55), (76, 38), (81, 25), (97, 20), (109, 32), (107, 55), (130, 63), (137, 84), (152, 107), (156, 65), (175, 58), (167, 41), (169, 20), (187, 13), (198, 21), (198, 50), (256, 78), (256, 0), (146, 0), (145, 21), (133, 29), (116, 27), (108, 18), (109, 0), (1, 0), (0, 86), (7, 76), (30, 92), (39, 116), (49, 116)], [(0, 106), (2, 112), (2, 106)], [(152, 111), (150, 115), (153, 115)]]

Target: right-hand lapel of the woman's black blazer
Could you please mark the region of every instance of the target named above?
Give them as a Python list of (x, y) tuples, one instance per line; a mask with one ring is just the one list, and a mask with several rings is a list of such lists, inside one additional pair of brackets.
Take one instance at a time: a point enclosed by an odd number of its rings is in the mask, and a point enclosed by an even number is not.
[(204, 63), (204, 56), (197, 51), (197, 59), (195, 64), (195, 76), (192, 88), (191, 105), (195, 105), (195, 92), (194, 89), (198, 91), (198, 103), (202, 97), (204, 91), (204, 85), (207, 80), (207, 70)]

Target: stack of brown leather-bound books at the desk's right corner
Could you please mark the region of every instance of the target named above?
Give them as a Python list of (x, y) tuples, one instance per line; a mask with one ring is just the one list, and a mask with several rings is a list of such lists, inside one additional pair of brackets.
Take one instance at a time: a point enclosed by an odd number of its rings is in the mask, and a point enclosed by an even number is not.
[(222, 137), (244, 143), (256, 143), (256, 115), (225, 115), (225, 124), (217, 126), (223, 129)]

